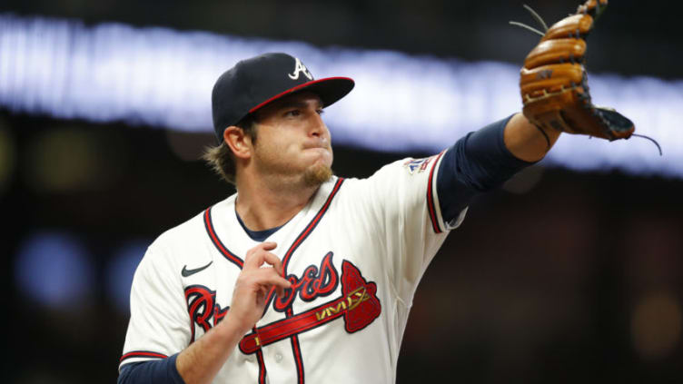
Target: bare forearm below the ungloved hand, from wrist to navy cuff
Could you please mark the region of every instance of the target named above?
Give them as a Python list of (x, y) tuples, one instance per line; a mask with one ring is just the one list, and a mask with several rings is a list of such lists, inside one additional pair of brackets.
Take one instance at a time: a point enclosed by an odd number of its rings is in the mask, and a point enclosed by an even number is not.
[(228, 312), (223, 321), (178, 355), (175, 366), (186, 384), (212, 382), (233, 353), (245, 332), (230, 320)]

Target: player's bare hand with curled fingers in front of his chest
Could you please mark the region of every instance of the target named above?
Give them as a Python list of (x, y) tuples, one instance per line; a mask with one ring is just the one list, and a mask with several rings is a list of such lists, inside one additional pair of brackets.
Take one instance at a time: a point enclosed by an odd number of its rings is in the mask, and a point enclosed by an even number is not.
[(272, 288), (282, 296), (284, 290), (292, 286), (282, 278), (282, 261), (270, 252), (276, 246), (272, 241), (262, 242), (247, 251), (243, 269), (235, 282), (227, 317), (244, 332), (261, 319)]

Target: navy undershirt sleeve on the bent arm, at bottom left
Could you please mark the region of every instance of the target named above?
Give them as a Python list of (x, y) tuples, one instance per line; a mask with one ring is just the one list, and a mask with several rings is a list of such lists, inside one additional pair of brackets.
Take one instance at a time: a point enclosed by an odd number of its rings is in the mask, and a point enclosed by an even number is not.
[(185, 384), (175, 367), (176, 353), (168, 359), (148, 360), (121, 367), (117, 384)]

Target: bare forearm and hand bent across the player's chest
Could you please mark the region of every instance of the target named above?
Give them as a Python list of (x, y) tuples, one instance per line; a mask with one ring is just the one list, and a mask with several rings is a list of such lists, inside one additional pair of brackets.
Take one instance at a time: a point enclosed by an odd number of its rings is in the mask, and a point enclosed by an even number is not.
[[(175, 360), (186, 384), (210, 383), (245, 333), (261, 319), (268, 292), (282, 296), (291, 283), (282, 278), (282, 262), (271, 253), (274, 242), (263, 242), (249, 250), (243, 270), (235, 282), (233, 302), (223, 321), (183, 350)], [(264, 266), (269, 264), (270, 266)]]

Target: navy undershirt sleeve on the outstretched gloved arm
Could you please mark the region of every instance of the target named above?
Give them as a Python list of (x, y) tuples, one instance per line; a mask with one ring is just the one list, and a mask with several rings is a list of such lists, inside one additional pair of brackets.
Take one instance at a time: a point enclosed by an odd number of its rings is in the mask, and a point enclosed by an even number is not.
[(505, 146), (503, 132), (511, 117), (468, 133), (443, 154), (436, 188), (446, 222), (458, 217), (475, 194), (500, 186), (534, 163), (516, 158)]

